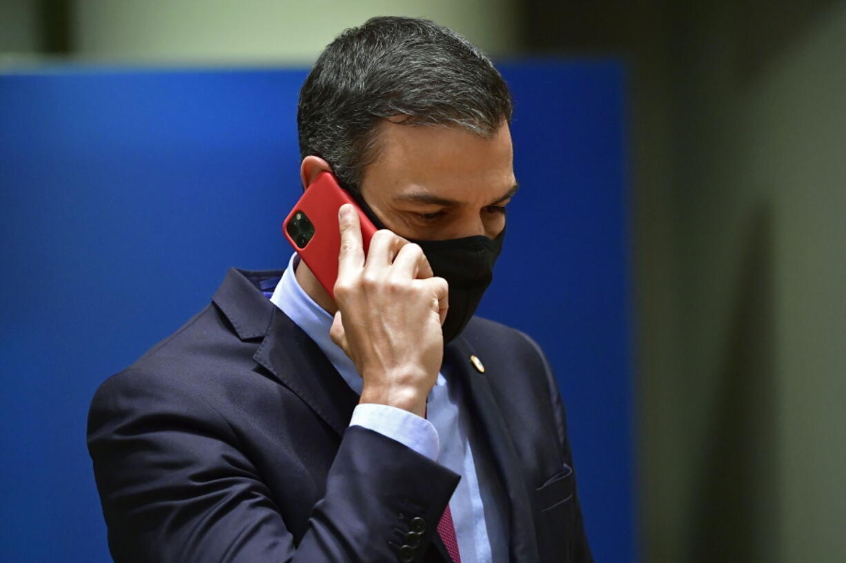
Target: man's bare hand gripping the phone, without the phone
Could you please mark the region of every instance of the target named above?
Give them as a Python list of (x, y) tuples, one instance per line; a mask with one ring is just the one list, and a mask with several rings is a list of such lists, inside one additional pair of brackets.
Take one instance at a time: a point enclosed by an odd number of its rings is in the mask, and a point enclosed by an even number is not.
[(360, 402), (423, 417), (443, 359), (447, 282), (432, 276), (420, 246), (390, 231), (375, 233), (365, 257), (352, 206), (343, 206), (339, 226), (332, 341), (364, 380)]

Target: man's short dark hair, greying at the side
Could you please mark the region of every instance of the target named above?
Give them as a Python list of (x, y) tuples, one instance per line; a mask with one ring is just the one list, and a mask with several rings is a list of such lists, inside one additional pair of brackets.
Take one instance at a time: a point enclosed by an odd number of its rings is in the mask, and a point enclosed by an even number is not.
[(299, 152), (325, 159), (344, 188), (357, 190), (376, 159), (382, 119), (487, 138), (511, 112), (502, 75), (463, 36), (428, 19), (371, 18), (332, 41), (305, 79)]

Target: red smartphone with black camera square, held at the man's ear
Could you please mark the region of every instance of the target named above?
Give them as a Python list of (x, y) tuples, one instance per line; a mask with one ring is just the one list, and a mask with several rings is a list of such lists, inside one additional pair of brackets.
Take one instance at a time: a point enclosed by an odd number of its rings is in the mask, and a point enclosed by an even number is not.
[(318, 282), (335, 298), (335, 281), (338, 279), (338, 254), (341, 252), (341, 230), (338, 227), (338, 209), (352, 204), (359, 213), (361, 243), (365, 256), (376, 227), (365, 216), (352, 196), (344, 191), (332, 172), (321, 172), (305, 189), (294, 209), (285, 217), (282, 231), (288, 243), (305, 261)]

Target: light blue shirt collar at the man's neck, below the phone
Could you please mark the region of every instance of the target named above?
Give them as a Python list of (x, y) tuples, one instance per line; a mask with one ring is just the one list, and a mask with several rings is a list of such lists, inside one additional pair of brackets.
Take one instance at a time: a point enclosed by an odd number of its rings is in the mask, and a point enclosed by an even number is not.
[(360, 395), (362, 382), (355, 364), (329, 336), (333, 317), (299, 286), (295, 274), (297, 265), (299, 255), (294, 253), (273, 291), (271, 303), (282, 309), (320, 347), (347, 385)]

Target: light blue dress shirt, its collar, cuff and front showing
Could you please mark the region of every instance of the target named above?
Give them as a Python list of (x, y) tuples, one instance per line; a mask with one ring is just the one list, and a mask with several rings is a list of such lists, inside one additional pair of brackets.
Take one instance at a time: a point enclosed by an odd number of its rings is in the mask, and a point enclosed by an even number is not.
[[(271, 301), (316, 342), (347, 385), (360, 394), (362, 381), (354, 363), (329, 336), (332, 315), (299, 287), (294, 275), (298, 264), (299, 256), (294, 254)], [(349, 425), (363, 426), (397, 440), (459, 473), (461, 480), (449, 500), (449, 508), (462, 563), (505, 563), (506, 500), (492, 461), (471, 443), (473, 429), (463, 404), (460, 385), (438, 374), (426, 402), (428, 419), (401, 408), (361, 404), (355, 407)]]

